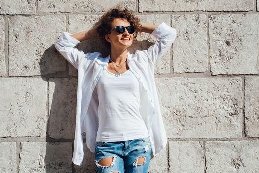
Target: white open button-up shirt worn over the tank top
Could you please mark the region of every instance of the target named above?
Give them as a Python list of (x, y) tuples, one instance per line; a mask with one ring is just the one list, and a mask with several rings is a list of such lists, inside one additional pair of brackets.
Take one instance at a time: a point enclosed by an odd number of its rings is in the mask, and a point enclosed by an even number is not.
[[(154, 79), (155, 62), (171, 47), (176, 38), (176, 29), (162, 22), (153, 32), (158, 42), (148, 50), (137, 50), (135, 54), (128, 52), (129, 70), (137, 77), (144, 87), (141, 93), (140, 113), (145, 121), (150, 135), (152, 155), (156, 156), (167, 144), (166, 132), (160, 111)], [(86, 133), (86, 144), (91, 152), (96, 145), (98, 130), (98, 98), (94, 88), (104, 69), (107, 69), (110, 56), (101, 57), (101, 53), (84, 53), (74, 48), (80, 41), (71, 37), (72, 34), (64, 32), (55, 42), (56, 49), (78, 69), (76, 127), (74, 138), (74, 151), (72, 161), (82, 165), (84, 158), (83, 136)]]

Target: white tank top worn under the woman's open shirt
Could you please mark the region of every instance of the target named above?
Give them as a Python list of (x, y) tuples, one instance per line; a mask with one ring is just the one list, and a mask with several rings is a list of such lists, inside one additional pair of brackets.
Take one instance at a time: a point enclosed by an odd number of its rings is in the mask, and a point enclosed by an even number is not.
[(96, 141), (126, 141), (149, 136), (139, 111), (142, 88), (130, 70), (117, 77), (105, 69), (96, 90), (99, 100)]

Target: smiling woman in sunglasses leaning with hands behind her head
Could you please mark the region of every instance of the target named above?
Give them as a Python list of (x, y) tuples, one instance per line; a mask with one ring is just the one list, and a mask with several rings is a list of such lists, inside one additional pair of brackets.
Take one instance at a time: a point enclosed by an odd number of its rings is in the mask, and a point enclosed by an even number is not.
[[(128, 47), (139, 32), (152, 34), (159, 41), (148, 50), (130, 54)], [(99, 36), (110, 47), (107, 57), (74, 48)], [(148, 172), (150, 160), (167, 144), (154, 64), (170, 49), (175, 37), (176, 30), (164, 22), (158, 26), (140, 24), (131, 11), (115, 8), (92, 29), (64, 32), (55, 42), (56, 49), (78, 69), (74, 164), (82, 164), (85, 132), (98, 173)]]

